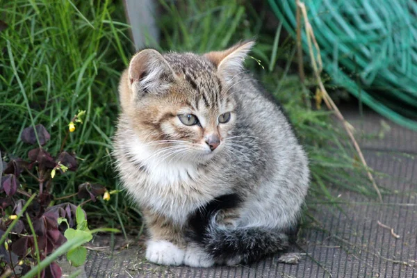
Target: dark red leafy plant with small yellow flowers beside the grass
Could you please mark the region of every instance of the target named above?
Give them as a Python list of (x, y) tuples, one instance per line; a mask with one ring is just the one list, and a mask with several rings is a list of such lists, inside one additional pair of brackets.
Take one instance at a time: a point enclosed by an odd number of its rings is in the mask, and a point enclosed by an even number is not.
[[(0, 236), (5, 234), (17, 215), (24, 213), (7, 235), (6, 242), (0, 246), (0, 277), (5, 273), (21, 277), (37, 263), (37, 258), (44, 259), (66, 242), (63, 236), (65, 230), (76, 225), (76, 205), (70, 202), (60, 203), (62, 200), (78, 195), (80, 199), (85, 199), (82, 203), (85, 204), (89, 201), (96, 202), (98, 196), (106, 193), (104, 186), (88, 182), (81, 183), (76, 194), (59, 196), (52, 192), (56, 173), (77, 170), (75, 154), (63, 150), (65, 144), (56, 155), (44, 149), (51, 136), (42, 124), (36, 125), (35, 129), (33, 126), (24, 129), (21, 139), (35, 146), (28, 151), (27, 159), (8, 154), (6, 164), (1, 161), (0, 156), (0, 171), (3, 169), (0, 172)], [(24, 206), (33, 194), (28, 189), (33, 186), (22, 186), (20, 181), (36, 184), (38, 187), (35, 199), (28, 204), (25, 211)], [(52, 200), (56, 205), (49, 206)], [(58, 224), (58, 218), (65, 218), (68, 224)], [(60, 266), (56, 262), (51, 263), (41, 273), (41, 277), (61, 276)]]

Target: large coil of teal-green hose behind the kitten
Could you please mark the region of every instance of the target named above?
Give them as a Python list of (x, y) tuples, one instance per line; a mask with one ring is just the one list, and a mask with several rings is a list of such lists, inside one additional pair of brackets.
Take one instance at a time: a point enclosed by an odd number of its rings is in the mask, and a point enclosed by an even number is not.
[[(295, 38), (295, 0), (268, 1)], [(417, 1), (303, 2), (332, 83), (389, 120), (417, 130)]]

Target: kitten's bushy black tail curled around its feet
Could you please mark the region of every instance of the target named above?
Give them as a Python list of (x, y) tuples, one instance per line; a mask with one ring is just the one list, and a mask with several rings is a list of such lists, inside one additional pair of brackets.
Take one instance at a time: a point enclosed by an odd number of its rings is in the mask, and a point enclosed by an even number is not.
[(223, 195), (197, 210), (190, 218), (188, 236), (218, 263), (252, 263), (288, 247), (288, 236), (266, 227), (220, 227), (214, 215), (240, 204), (237, 195)]

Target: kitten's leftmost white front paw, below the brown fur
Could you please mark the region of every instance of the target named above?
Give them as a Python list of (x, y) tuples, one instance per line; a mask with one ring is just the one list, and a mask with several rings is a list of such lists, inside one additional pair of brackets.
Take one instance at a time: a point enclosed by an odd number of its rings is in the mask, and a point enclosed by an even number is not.
[(166, 240), (149, 240), (146, 259), (158, 265), (181, 265), (186, 252)]

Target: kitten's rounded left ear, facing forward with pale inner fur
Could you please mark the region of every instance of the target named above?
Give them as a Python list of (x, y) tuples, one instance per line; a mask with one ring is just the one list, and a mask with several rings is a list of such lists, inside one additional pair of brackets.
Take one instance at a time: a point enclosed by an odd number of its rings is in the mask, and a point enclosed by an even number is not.
[(136, 94), (163, 92), (174, 81), (175, 74), (167, 60), (154, 49), (145, 49), (129, 63), (129, 87)]

